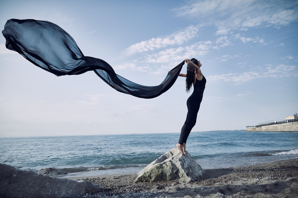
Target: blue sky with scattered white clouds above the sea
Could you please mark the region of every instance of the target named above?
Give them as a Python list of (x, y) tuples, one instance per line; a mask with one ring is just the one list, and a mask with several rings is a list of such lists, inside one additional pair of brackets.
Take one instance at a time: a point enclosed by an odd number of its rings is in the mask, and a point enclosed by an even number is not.
[[(298, 113), (298, 1), (1, 1), (2, 29), (11, 18), (57, 24), (84, 56), (142, 85), (198, 59), (207, 84), (192, 132)], [(184, 77), (154, 99), (117, 92), (92, 71), (57, 77), (0, 37), (0, 137), (179, 133), (191, 92)]]

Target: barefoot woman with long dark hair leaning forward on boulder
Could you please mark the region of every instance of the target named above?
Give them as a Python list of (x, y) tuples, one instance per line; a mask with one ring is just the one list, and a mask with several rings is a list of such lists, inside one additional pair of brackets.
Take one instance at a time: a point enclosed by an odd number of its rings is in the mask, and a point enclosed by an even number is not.
[(177, 148), (182, 155), (187, 153), (185, 150), (186, 140), (190, 134), (191, 129), (195, 126), (197, 114), (203, 98), (206, 78), (203, 76), (200, 67), (202, 64), (195, 58), (185, 59), (187, 63), (187, 74), (180, 73), (179, 76), (186, 77), (186, 92), (188, 93), (193, 85), (193, 94), (187, 99), (187, 116), (186, 121), (181, 129), (180, 139)]

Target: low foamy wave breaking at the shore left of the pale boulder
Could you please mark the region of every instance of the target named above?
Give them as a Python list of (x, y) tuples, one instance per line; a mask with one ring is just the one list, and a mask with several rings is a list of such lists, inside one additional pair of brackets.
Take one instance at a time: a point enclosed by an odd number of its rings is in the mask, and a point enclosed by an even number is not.
[(139, 165), (118, 165), (118, 166), (99, 166), (99, 167), (75, 167), (75, 168), (60, 168), (58, 170), (63, 172), (84, 172), (84, 171), (91, 171), (91, 170), (109, 170), (109, 169), (124, 169), (124, 168), (139, 168), (145, 166)]

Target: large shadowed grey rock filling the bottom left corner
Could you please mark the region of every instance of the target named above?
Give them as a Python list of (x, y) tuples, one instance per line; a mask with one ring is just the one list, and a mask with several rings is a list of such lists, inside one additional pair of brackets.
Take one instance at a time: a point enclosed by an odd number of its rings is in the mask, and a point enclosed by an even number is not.
[(0, 164), (0, 197), (72, 197), (102, 189), (87, 181), (52, 178)]

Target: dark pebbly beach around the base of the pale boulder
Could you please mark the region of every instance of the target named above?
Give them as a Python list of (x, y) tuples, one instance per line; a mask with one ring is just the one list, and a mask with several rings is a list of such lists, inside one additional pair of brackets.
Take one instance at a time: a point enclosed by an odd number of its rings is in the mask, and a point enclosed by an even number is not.
[[(200, 180), (131, 183), (137, 173), (73, 177), (103, 191), (83, 197), (297, 197), (298, 158), (241, 167), (206, 169)], [(82, 197), (82, 196), (77, 196)]]

